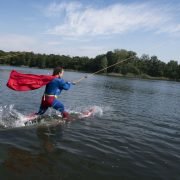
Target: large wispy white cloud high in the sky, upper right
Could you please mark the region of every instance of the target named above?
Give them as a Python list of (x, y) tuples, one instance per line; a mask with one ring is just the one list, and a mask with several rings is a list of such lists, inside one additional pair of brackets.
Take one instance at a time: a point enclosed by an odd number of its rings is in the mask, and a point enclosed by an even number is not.
[[(62, 12), (65, 13), (64, 21), (48, 29), (48, 34), (86, 36), (120, 34), (139, 29), (160, 31), (172, 20), (166, 9), (150, 4), (114, 4), (97, 9), (74, 2), (53, 3), (48, 8), (49, 14), (60, 15)], [(167, 29), (166, 32), (171, 33), (172, 30)]]

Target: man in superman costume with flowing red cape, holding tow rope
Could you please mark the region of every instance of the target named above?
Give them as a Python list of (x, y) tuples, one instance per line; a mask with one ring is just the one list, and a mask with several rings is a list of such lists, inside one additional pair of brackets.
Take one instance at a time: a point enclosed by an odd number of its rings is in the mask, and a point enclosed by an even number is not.
[(39, 111), (35, 114), (42, 115), (49, 107), (52, 107), (61, 112), (64, 119), (67, 119), (69, 114), (65, 111), (64, 105), (57, 99), (57, 96), (61, 94), (62, 90), (69, 90), (74, 83), (65, 82), (62, 79), (63, 74), (64, 69), (61, 67), (55, 68), (52, 76), (22, 74), (12, 71), (7, 86), (16, 91), (29, 91), (46, 85)]

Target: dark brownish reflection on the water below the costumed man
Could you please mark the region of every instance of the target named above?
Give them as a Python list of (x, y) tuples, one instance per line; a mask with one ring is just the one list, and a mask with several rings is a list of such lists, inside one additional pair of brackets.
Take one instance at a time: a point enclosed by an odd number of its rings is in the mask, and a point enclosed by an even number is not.
[[(58, 133), (56, 133), (58, 131)], [(56, 141), (62, 137), (62, 127), (41, 127), (37, 128), (37, 137), (39, 138), (41, 152), (31, 152), (26, 149), (11, 146), (7, 149), (7, 158), (3, 162), (5, 177), (31, 179), (39, 178), (60, 178), (59, 170), (53, 165), (53, 156), (56, 151)], [(60, 153), (58, 153), (60, 155)], [(54, 168), (55, 167), (55, 168)], [(28, 173), (28, 177), (27, 177)], [(58, 176), (57, 173), (59, 174)], [(13, 176), (12, 176), (13, 175)], [(54, 179), (54, 178), (53, 178)]]

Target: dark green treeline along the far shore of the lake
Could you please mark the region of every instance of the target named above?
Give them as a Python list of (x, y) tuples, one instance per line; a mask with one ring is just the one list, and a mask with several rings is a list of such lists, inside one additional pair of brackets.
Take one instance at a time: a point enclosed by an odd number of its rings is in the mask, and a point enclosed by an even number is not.
[[(123, 62), (120, 63), (120, 61)], [(117, 65), (113, 66), (115, 63)], [(38, 68), (62, 66), (66, 69), (91, 73), (104, 69), (100, 73), (180, 80), (180, 65), (177, 61), (170, 60), (168, 63), (164, 63), (157, 56), (149, 57), (146, 54), (137, 57), (135, 52), (124, 49), (109, 51), (95, 58), (35, 54), (33, 52), (4, 52), (0, 50), (0, 64)], [(106, 69), (109, 66), (110, 68)]]

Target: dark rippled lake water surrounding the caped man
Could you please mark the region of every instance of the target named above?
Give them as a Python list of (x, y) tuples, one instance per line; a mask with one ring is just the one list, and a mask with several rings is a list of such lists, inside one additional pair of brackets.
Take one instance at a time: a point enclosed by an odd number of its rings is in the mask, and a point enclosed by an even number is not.
[[(0, 67), (0, 179), (180, 179), (180, 83), (95, 75), (60, 96), (68, 110), (94, 107), (94, 116), (17, 127), (21, 116), (38, 110), (44, 88), (8, 89), (12, 69), (52, 73)], [(65, 72), (64, 79), (84, 75)]]

